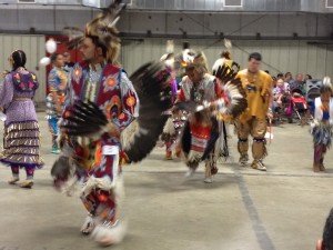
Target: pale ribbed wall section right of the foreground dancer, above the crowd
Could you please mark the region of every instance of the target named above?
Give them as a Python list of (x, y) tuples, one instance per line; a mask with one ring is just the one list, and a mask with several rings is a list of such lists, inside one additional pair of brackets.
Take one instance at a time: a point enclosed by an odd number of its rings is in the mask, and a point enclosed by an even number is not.
[[(223, 43), (216, 40), (190, 40), (193, 49), (202, 50), (210, 66), (219, 58)], [(333, 48), (309, 46), (305, 41), (233, 41), (232, 57), (242, 68), (246, 67), (250, 52), (263, 56), (263, 69), (272, 74), (286, 71), (293, 74), (309, 73), (313, 78), (331, 76), (333, 78)], [(175, 51), (181, 50), (182, 41), (175, 41)], [(159, 60), (165, 53), (165, 40), (145, 39), (143, 41), (123, 41), (121, 62), (128, 73), (150, 60)]]

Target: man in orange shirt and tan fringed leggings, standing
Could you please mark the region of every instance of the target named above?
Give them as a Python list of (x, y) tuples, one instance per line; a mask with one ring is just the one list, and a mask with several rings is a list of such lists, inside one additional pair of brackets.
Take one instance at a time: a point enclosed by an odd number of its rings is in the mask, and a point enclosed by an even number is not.
[(246, 93), (248, 109), (241, 114), (238, 122), (238, 150), (241, 154), (240, 164), (245, 167), (249, 161), (249, 136), (253, 137), (252, 168), (266, 171), (263, 159), (268, 154), (265, 147), (266, 117), (271, 117), (271, 98), (273, 80), (270, 74), (260, 70), (262, 57), (251, 53), (248, 69), (238, 73)]

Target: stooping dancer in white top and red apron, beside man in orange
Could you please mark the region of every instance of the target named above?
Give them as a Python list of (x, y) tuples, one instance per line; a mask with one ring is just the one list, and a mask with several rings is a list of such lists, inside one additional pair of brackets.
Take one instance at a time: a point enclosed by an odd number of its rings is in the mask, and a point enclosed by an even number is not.
[[(201, 161), (205, 161), (204, 182), (211, 183), (218, 172), (215, 142), (220, 137), (218, 120), (238, 117), (246, 108), (241, 82), (226, 66), (219, 67), (215, 76), (208, 73), (208, 63), (202, 52), (189, 50), (186, 77), (181, 83), (176, 108), (190, 112), (181, 138), (182, 151), (192, 176)], [(224, 89), (229, 92), (225, 94)]]

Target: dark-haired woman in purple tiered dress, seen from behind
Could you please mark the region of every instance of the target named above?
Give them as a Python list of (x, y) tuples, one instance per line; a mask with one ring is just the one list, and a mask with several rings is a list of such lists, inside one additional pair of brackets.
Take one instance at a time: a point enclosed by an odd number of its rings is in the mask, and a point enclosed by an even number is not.
[(7, 116), (0, 161), (11, 168), (10, 184), (19, 182), (19, 170), (24, 168), (27, 179), (19, 184), (21, 188), (31, 188), (34, 169), (42, 167), (39, 124), (32, 101), (39, 84), (36, 74), (24, 68), (26, 61), (22, 50), (12, 52), (9, 57), (12, 70), (0, 89), (0, 107)]

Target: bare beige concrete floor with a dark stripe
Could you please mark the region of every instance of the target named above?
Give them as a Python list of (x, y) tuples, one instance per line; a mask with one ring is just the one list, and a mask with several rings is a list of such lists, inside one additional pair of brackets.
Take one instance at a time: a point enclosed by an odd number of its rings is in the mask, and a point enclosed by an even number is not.
[[(7, 184), (0, 171), (1, 250), (100, 249), (79, 232), (85, 212), (77, 197), (52, 188), (50, 137), (43, 113), (42, 156), (32, 190)], [(214, 183), (203, 168), (190, 180), (180, 161), (164, 161), (163, 150), (124, 168), (129, 232), (114, 250), (311, 250), (333, 207), (333, 156), (326, 173), (313, 173), (309, 128), (274, 128), (265, 160), (269, 171), (220, 164)], [(235, 138), (232, 138), (233, 156)], [(23, 176), (22, 176), (23, 177)]]

